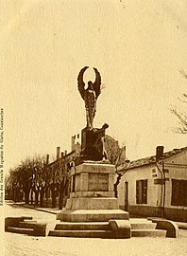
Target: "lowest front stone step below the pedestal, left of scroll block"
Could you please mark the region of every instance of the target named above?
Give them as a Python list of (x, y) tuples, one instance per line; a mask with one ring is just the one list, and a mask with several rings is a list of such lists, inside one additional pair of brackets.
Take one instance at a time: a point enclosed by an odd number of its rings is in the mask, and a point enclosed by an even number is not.
[(113, 234), (110, 230), (51, 230), (48, 236), (112, 238)]

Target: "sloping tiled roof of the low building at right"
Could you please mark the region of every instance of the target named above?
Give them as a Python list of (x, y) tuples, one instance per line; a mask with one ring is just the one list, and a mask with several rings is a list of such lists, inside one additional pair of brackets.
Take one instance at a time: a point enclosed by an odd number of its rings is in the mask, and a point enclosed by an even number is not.
[[(165, 158), (171, 157), (173, 155), (177, 155), (178, 153), (181, 153), (185, 150), (187, 150), (187, 147), (180, 148), (180, 149), (174, 149), (172, 151), (164, 153), (163, 158), (165, 159)], [(149, 157), (145, 157), (145, 158), (142, 158), (142, 159), (131, 161), (129, 163), (129, 166), (127, 166), (127, 164), (122, 164), (118, 167), (118, 170), (122, 171), (125, 168), (126, 169), (132, 169), (132, 168), (152, 164), (152, 163), (155, 163), (155, 162), (156, 162), (156, 155), (152, 155), (152, 156), (149, 156)]]

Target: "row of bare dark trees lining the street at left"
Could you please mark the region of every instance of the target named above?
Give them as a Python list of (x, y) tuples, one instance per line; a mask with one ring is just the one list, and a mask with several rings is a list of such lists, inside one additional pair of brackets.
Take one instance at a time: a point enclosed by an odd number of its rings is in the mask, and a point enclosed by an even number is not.
[[(59, 172), (61, 171), (61, 172)], [(64, 182), (64, 170), (50, 169), (46, 158), (37, 155), (33, 158), (26, 158), (14, 169), (10, 169), (6, 177), (6, 197), (15, 202), (25, 200), (26, 204), (43, 206), (45, 194), (46, 205), (48, 204), (49, 192), (52, 192), (52, 207), (56, 207), (56, 197), (66, 188)], [(63, 186), (62, 186), (63, 184)], [(63, 189), (61, 189), (63, 187)], [(60, 207), (61, 202), (60, 202)]]

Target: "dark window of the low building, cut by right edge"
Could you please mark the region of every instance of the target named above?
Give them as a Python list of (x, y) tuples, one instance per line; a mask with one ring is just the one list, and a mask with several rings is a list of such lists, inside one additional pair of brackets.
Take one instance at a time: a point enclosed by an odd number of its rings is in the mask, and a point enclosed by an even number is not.
[(172, 179), (172, 206), (187, 206), (187, 180)]

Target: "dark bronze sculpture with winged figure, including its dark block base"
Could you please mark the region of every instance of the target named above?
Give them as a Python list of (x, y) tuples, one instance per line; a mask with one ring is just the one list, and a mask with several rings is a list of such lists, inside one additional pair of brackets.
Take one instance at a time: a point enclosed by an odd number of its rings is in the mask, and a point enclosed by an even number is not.
[(83, 75), (89, 66), (83, 67), (77, 77), (78, 91), (85, 101), (87, 126), (81, 131), (81, 152), (76, 157), (76, 165), (85, 160), (108, 161), (105, 150), (105, 130), (109, 127), (105, 123), (102, 128), (93, 128), (93, 119), (96, 112), (96, 100), (101, 93), (101, 76), (97, 69), (93, 67), (95, 81), (88, 82), (85, 88)]

